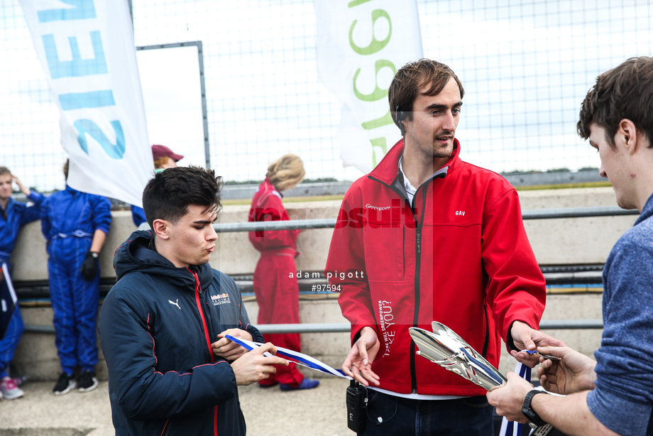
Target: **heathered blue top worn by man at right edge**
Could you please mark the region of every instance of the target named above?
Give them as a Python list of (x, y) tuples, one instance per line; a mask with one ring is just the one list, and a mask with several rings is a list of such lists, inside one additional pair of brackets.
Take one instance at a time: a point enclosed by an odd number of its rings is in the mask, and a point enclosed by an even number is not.
[(594, 356), (590, 411), (620, 435), (646, 435), (653, 409), (653, 195), (605, 262), (603, 337)]

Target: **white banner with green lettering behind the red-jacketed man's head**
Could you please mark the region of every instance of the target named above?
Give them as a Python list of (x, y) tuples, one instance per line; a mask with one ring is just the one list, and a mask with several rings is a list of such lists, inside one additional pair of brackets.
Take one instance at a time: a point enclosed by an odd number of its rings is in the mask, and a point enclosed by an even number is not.
[(388, 105), (397, 69), (422, 58), (415, 0), (314, 0), (317, 70), (342, 102), (343, 166), (369, 173), (400, 138)]

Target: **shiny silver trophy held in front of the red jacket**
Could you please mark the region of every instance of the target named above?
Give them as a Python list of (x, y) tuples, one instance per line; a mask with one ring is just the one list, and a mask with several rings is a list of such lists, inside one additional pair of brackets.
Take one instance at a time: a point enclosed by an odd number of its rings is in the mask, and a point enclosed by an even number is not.
[[(419, 348), (417, 351), (419, 356), (488, 390), (501, 386), (507, 381), (498, 369), (454, 330), (437, 321), (432, 322), (431, 326), (433, 332), (419, 327), (408, 329), (410, 337)], [(534, 429), (531, 435), (544, 436), (552, 429), (548, 424), (542, 427), (535, 427), (532, 423), (529, 425)]]

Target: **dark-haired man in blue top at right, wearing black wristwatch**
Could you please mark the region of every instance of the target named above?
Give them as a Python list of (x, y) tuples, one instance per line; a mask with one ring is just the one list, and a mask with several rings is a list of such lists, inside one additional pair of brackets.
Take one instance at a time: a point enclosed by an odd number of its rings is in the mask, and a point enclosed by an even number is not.
[[(566, 435), (653, 435), (653, 58), (599, 75), (581, 106), (578, 134), (600, 157), (617, 204), (640, 217), (603, 268), (603, 335), (596, 361), (569, 347), (538, 347), (537, 395), (508, 374), (488, 401), (509, 420), (544, 421)], [(523, 413), (522, 413), (523, 410)], [(539, 423), (538, 423), (539, 424)]]

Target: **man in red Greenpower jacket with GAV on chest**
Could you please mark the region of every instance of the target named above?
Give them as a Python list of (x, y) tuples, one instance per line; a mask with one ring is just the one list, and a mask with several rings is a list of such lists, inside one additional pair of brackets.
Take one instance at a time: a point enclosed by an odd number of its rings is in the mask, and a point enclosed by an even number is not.
[[(493, 435), (485, 390), (416, 356), (409, 327), (439, 321), (498, 366), (559, 343), (537, 328), (544, 278), (515, 188), (463, 162), (463, 86), (446, 65), (402, 67), (388, 89), (403, 138), (341, 205), (326, 274), (353, 347), (343, 371), (368, 391), (366, 435)], [(533, 366), (536, 361), (532, 361)]]

